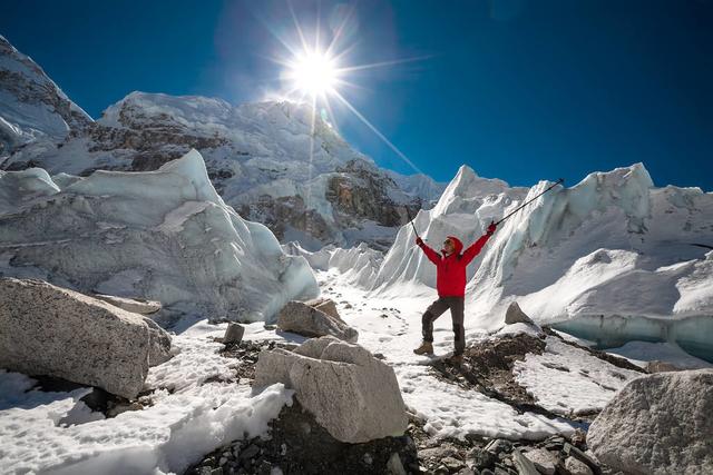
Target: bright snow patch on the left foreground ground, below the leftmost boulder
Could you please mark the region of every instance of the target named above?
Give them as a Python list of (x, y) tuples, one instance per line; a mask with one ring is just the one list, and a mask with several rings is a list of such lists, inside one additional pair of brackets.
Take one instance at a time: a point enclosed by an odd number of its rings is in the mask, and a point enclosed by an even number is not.
[[(236, 384), (236, 360), (219, 356), (222, 345), (209, 339), (224, 328), (202, 321), (175, 337), (180, 354), (150, 368), (146, 380), (154, 405), (109, 419), (66, 426), (68, 413), (86, 408), (78, 399), (89, 389), (25, 393), (32, 379), (0, 373), (0, 472), (182, 473), (229, 441), (265, 434), (293, 392), (276, 384), (252, 395)], [(262, 324), (251, 325), (246, 337), (261, 331)]]

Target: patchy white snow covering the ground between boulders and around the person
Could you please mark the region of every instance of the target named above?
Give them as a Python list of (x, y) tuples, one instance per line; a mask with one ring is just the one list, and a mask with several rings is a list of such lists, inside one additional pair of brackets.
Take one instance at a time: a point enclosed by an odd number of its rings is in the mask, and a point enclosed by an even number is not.
[[(549, 337), (547, 352), (528, 355), (516, 373), (538, 404), (563, 417), (518, 414), (505, 403), (437, 378), (431, 358), (412, 353), (421, 338), (420, 315), (434, 298), (433, 289), (400, 286), (389, 296), (372, 297), (334, 270), (319, 273), (318, 279), (323, 295), (334, 299), (342, 317), (359, 330), (359, 343), (382, 354), (394, 368), (409, 410), (426, 420), (426, 431), (434, 437), (473, 433), (539, 439), (569, 434), (576, 425), (568, 415), (600, 409), (636, 376)], [(478, 320), (467, 309), (469, 345), (488, 337)], [(114, 418), (91, 413), (79, 400), (89, 389), (43, 393), (30, 389), (35, 382), (25, 375), (0, 373), (0, 472), (182, 473), (229, 441), (265, 434), (268, 420), (291, 404), (292, 392), (274, 385), (254, 394), (246, 383), (235, 383), (235, 365), (241, 362), (219, 356), (222, 345), (212, 340), (223, 336), (225, 324), (194, 320), (175, 329), (174, 345), (180, 353), (149, 369), (145, 389), (153, 390), (146, 396), (150, 406)], [(437, 320), (434, 337), (437, 357), (448, 356), (448, 313)], [(304, 340), (265, 329), (263, 323), (246, 325), (245, 339)]]

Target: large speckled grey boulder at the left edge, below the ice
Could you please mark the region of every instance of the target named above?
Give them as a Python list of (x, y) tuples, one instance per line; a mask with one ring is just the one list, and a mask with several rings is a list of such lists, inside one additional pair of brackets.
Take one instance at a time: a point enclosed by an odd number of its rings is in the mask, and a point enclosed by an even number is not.
[(0, 367), (135, 398), (149, 364), (170, 357), (154, 321), (41, 280), (0, 278)]

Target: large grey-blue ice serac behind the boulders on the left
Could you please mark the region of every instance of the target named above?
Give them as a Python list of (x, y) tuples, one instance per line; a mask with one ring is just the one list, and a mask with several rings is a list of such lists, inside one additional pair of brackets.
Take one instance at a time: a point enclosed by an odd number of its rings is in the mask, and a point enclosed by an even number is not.
[[(47, 180), (38, 174), (0, 179)], [(318, 295), (304, 258), (226, 206), (196, 150), (156, 171), (65, 181), (6, 205), (14, 208), (0, 214), (3, 275), (158, 300), (163, 315), (234, 320), (270, 319), (286, 301)]]

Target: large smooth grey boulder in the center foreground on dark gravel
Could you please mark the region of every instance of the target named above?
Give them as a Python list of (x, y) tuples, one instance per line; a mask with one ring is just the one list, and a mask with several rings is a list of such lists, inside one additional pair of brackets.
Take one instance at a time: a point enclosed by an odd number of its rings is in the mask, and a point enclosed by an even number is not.
[(406, 405), (393, 369), (359, 345), (309, 339), (294, 352), (262, 352), (254, 387), (283, 383), (334, 438), (363, 443), (402, 435)]

